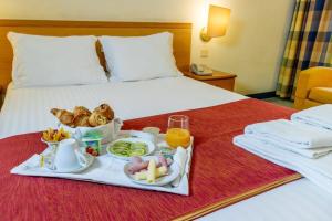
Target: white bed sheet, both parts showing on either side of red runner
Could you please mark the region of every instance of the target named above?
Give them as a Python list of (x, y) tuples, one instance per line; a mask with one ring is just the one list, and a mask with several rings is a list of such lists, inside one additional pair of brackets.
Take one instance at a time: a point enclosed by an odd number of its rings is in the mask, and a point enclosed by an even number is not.
[[(50, 108), (93, 108), (105, 102), (123, 119), (240, 101), (242, 95), (187, 78), (65, 87), (9, 87), (0, 113), (0, 138), (56, 126)], [(332, 194), (307, 179), (270, 190), (208, 214), (201, 220), (322, 220), (332, 218)]]

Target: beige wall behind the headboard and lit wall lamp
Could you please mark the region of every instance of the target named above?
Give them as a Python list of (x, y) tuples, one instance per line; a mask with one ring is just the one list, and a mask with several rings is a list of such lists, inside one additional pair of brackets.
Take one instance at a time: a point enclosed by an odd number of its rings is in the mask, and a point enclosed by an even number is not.
[[(208, 3), (232, 10), (228, 33), (203, 43)], [(1, 19), (185, 21), (194, 23), (193, 62), (238, 75), (240, 93), (273, 91), (293, 0), (0, 0)], [(207, 49), (209, 57), (201, 59)]]

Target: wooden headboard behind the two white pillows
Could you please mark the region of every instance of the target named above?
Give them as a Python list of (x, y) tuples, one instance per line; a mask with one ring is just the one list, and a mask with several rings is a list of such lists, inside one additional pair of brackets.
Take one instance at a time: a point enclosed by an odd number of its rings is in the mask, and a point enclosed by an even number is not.
[[(178, 69), (187, 71), (190, 63), (190, 23), (0, 20), (0, 85), (3, 87), (11, 81), (13, 59), (12, 49), (7, 39), (9, 31), (53, 36), (137, 36), (168, 31), (174, 34), (174, 56)], [(104, 65), (104, 56), (98, 44), (97, 53)]]

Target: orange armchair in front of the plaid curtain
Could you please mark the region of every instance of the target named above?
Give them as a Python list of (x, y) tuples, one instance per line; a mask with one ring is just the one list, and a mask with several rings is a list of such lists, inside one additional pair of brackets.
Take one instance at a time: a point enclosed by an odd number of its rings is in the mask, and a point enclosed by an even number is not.
[(332, 69), (317, 66), (300, 72), (294, 107), (305, 109), (332, 104)]

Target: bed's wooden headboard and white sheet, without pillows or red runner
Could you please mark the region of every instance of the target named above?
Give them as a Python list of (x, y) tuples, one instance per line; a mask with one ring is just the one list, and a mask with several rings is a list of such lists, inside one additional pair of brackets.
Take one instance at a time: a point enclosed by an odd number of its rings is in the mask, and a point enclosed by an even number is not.
[[(187, 44), (181, 44), (184, 41), (190, 40), (191, 28), (188, 24), (1, 21), (0, 27), (0, 45), (7, 45), (3, 42), (6, 41), (4, 32), (8, 30), (40, 34), (60, 33), (60, 35), (85, 34), (86, 32), (101, 34), (105, 33), (105, 30), (108, 34), (144, 35), (168, 30), (176, 36), (175, 56), (179, 70), (185, 71), (189, 63), (190, 50)], [(8, 45), (0, 53), (0, 71), (2, 72), (0, 80), (4, 85), (10, 82), (12, 56), (9, 49), (6, 49)], [(185, 76), (82, 86), (12, 88), (12, 85), (9, 84), (0, 113), (0, 138), (40, 131), (50, 126), (55, 127), (54, 118), (49, 110), (56, 106), (72, 108), (80, 104), (92, 108), (105, 102), (114, 107), (115, 113), (122, 119), (133, 119), (210, 107), (247, 98)], [(243, 217), (246, 220), (255, 221), (330, 220), (332, 217), (331, 203), (331, 194), (307, 179), (300, 179), (215, 211), (203, 217), (201, 220), (243, 220)]]

